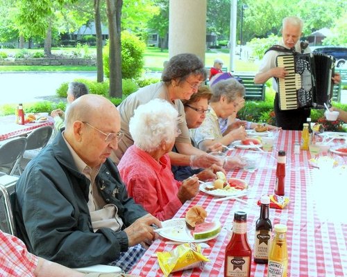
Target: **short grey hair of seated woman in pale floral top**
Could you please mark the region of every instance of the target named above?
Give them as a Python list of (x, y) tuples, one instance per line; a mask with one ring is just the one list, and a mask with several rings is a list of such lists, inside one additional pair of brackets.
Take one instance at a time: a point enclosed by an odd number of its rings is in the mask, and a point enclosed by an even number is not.
[(218, 102), (221, 96), (226, 96), (228, 102), (235, 100), (237, 97), (244, 97), (244, 85), (235, 78), (222, 80), (211, 87), (212, 98), (210, 102)]

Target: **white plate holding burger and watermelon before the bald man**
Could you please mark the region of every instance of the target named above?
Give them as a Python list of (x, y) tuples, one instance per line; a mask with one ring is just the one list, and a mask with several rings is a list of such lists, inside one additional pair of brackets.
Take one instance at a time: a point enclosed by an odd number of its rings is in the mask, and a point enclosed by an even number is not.
[(206, 242), (208, 240), (213, 240), (214, 238), (217, 238), (219, 233), (217, 235), (214, 235), (211, 238), (206, 238), (203, 240), (194, 240), (192, 234), (190, 233), (187, 225), (185, 224), (184, 218), (174, 218), (172, 220), (166, 220), (162, 222), (162, 227), (171, 227), (172, 229), (165, 229), (163, 231), (159, 231), (158, 233), (163, 237), (167, 238), (168, 240), (174, 240), (175, 242)]

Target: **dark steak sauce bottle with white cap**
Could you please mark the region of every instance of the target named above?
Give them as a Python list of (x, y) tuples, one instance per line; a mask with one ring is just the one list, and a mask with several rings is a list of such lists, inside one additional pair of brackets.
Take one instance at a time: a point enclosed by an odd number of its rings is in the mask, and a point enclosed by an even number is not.
[(269, 260), (269, 242), (271, 238), (272, 224), (269, 220), (270, 197), (263, 195), (260, 199), (260, 217), (255, 223), (254, 262), (267, 264)]

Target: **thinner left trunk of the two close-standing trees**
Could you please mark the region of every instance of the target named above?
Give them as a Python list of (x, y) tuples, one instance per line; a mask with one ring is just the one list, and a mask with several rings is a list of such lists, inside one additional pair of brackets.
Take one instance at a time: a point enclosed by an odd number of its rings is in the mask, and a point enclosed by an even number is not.
[(103, 82), (103, 34), (101, 31), (100, 0), (94, 0), (94, 21), (96, 33), (96, 81)]

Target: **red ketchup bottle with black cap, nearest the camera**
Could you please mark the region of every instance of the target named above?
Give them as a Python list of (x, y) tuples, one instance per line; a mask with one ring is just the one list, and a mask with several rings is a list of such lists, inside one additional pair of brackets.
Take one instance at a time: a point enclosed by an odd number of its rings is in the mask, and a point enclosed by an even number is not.
[(247, 214), (234, 214), (232, 237), (226, 246), (224, 277), (248, 277), (251, 274), (252, 249), (247, 240)]

